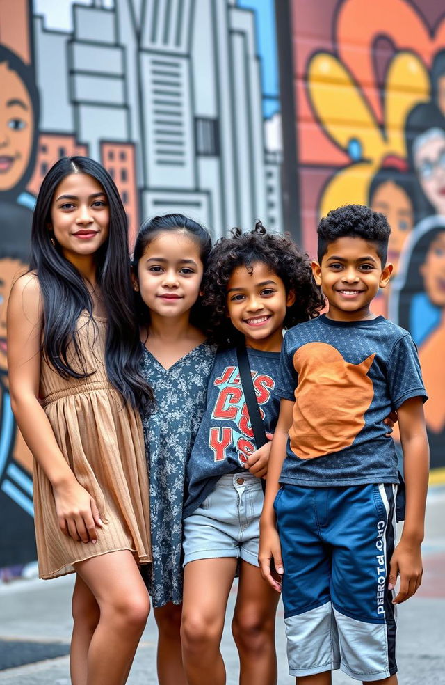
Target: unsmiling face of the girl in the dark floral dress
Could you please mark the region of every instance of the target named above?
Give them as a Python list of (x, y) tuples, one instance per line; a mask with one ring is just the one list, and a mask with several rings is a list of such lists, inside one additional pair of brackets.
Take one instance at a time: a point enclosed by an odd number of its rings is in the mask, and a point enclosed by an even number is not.
[(185, 230), (164, 231), (140, 258), (135, 287), (152, 317), (186, 317), (200, 294), (203, 272), (196, 240)]

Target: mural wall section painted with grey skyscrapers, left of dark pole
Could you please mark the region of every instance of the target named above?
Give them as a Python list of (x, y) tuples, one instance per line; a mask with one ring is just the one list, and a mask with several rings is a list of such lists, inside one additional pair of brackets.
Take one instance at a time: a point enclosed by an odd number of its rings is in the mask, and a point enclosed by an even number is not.
[(32, 457), (10, 410), (6, 304), (40, 182), (90, 155), (141, 219), (282, 226), (273, 0), (0, 2), (0, 568), (35, 558)]

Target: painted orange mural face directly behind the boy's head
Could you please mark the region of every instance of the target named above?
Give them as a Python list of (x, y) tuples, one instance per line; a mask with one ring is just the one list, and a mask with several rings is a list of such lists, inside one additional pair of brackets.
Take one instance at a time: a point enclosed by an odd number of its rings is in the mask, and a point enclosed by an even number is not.
[(403, 188), (394, 181), (385, 181), (376, 189), (371, 209), (385, 214), (391, 226), (387, 260), (394, 265), (396, 274), (403, 245), (414, 226), (412, 202)]

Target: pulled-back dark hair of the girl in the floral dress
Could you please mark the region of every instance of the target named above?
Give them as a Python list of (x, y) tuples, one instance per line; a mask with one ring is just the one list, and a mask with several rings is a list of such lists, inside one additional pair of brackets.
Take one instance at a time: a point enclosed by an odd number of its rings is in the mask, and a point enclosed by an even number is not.
[[(143, 257), (147, 246), (155, 237), (160, 233), (178, 233), (181, 231), (199, 246), (200, 259), (205, 272), (211, 251), (211, 235), (207, 228), (201, 226), (197, 221), (193, 221), (190, 217), (184, 216), (184, 214), (163, 214), (163, 216), (153, 216), (152, 219), (147, 219), (140, 226), (133, 249), (132, 265), (134, 276), (137, 278), (139, 260)], [(140, 297), (140, 292), (135, 292), (134, 297), (139, 323), (149, 325), (149, 309), (142, 297)], [(208, 331), (207, 322), (202, 310), (201, 296), (198, 297), (191, 308), (190, 321), (193, 326), (196, 326), (201, 331)]]

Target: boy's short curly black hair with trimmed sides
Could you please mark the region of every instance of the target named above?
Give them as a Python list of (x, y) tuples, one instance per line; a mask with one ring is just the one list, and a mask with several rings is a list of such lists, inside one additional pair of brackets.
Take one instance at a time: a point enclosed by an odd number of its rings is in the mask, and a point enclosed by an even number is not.
[(386, 217), (365, 205), (344, 205), (331, 210), (318, 224), (318, 263), (327, 252), (327, 246), (343, 237), (363, 238), (375, 244), (375, 249), (385, 266), (391, 228)]

